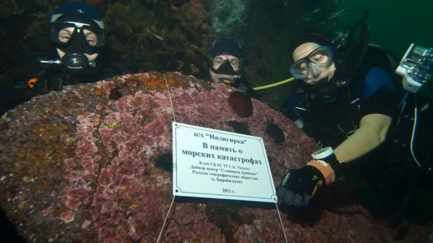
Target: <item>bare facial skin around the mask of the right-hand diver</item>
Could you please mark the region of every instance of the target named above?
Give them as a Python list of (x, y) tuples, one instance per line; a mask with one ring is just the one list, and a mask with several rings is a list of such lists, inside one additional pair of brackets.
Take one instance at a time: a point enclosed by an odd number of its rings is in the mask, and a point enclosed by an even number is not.
[[(313, 50), (316, 50), (319, 47), (321, 46), (317, 43), (312, 43), (312, 42), (303, 43), (301, 46), (298, 46), (294, 50), (292, 58), (294, 62), (301, 60), (305, 57), (308, 57), (308, 55), (310, 55), (310, 53), (312, 53)], [(318, 60), (320, 60), (321, 58), (324, 57), (312, 57), (312, 59), (318, 59)], [(331, 78), (334, 76), (335, 69), (336, 69), (335, 64), (334, 62), (332, 62), (328, 67), (320, 69), (319, 73), (314, 76), (311, 73), (309, 73), (307, 78), (303, 78), (303, 81), (309, 84), (315, 84), (317, 81), (322, 80), (323, 78), (328, 78), (328, 81), (330, 81)]]

